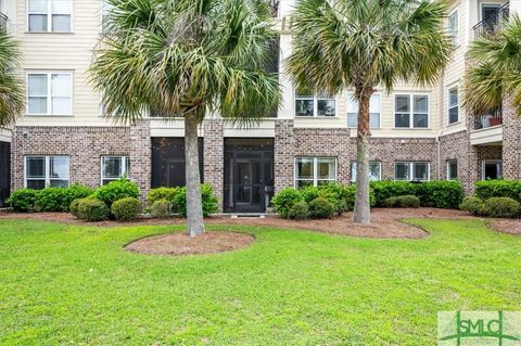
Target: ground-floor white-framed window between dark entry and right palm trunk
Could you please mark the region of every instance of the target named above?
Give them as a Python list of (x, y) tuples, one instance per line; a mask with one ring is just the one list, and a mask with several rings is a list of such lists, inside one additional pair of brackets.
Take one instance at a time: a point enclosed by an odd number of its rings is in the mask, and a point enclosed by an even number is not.
[(295, 185), (320, 185), (336, 181), (336, 158), (298, 157), (295, 164)]

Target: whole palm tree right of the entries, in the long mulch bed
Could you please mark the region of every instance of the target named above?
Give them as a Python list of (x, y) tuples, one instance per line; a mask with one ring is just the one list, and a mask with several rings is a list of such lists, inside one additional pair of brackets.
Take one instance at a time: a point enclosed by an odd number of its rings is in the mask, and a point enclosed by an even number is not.
[(442, 0), (300, 0), (293, 14), (294, 53), (288, 73), (295, 87), (358, 101), (354, 222), (370, 222), (369, 101), (381, 86), (433, 84), (449, 61)]

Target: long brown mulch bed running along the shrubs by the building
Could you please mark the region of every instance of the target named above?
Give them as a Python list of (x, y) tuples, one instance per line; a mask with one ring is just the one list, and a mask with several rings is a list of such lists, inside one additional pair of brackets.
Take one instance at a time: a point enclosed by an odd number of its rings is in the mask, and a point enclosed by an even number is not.
[[(206, 225), (239, 225), (257, 227), (276, 227), (285, 229), (310, 230), (330, 234), (353, 235), (364, 238), (384, 238), (384, 239), (418, 239), (428, 235), (423, 230), (401, 222), (401, 219), (407, 218), (473, 218), (466, 212), (447, 210), (436, 208), (418, 209), (372, 209), (372, 223), (370, 226), (360, 226), (352, 222), (352, 213), (327, 220), (285, 220), (276, 216), (266, 216), (266, 218), (230, 218), (229, 216), (211, 217), (205, 220)], [(55, 222), (65, 222), (73, 225), (88, 225), (98, 227), (118, 227), (135, 225), (183, 225), (183, 218), (152, 219), (141, 218), (131, 222), (102, 221), (86, 223), (78, 220), (71, 214), (63, 213), (39, 213), (39, 214), (17, 214), (10, 212), (0, 212), (0, 219), (38, 219)], [(519, 225), (518, 225), (519, 227)], [(520, 231), (521, 233), (521, 231)]]

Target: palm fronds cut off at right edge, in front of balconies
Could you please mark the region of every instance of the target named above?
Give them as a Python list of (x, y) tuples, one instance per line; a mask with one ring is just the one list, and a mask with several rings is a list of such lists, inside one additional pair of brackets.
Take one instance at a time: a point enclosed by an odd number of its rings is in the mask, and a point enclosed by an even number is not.
[(506, 94), (521, 113), (521, 20), (511, 14), (499, 27), (469, 48), (463, 105), (474, 115), (500, 108)]

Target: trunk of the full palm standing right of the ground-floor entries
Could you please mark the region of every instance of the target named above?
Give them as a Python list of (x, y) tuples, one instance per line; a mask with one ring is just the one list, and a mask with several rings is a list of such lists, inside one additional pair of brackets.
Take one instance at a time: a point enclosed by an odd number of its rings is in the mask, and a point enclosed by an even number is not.
[(372, 90), (357, 90), (358, 131), (356, 138), (356, 197), (353, 222), (368, 225), (371, 222), (369, 204), (369, 102)]

